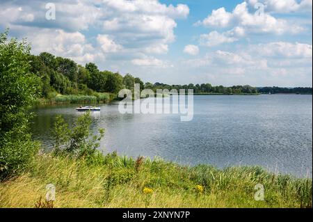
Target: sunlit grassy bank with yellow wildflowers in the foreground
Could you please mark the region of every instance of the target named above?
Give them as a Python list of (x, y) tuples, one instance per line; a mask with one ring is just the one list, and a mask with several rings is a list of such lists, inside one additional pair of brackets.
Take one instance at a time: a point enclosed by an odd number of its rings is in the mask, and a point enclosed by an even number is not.
[[(310, 179), (259, 167), (188, 168), (116, 154), (37, 155), (22, 175), (0, 183), (0, 207), (35, 207), (47, 184), (56, 186), (54, 207), (312, 207)], [(254, 198), (256, 184), (264, 186), (264, 201)]]

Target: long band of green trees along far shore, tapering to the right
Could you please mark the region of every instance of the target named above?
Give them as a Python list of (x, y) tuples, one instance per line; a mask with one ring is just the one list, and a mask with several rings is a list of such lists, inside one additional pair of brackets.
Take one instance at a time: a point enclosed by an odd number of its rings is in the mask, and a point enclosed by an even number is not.
[(160, 83), (143, 83), (141, 79), (126, 74), (122, 77), (118, 72), (100, 71), (95, 63), (78, 65), (69, 58), (56, 57), (47, 52), (38, 56), (31, 55), (31, 72), (42, 81), (42, 96), (54, 98), (63, 95), (90, 95), (97, 93), (118, 93), (122, 88), (133, 89), (140, 84), (141, 90), (157, 89), (193, 89), (194, 93), (241, 94), (257, 93), (252, 86), (212, 86), (211, 84), (168, 85)]

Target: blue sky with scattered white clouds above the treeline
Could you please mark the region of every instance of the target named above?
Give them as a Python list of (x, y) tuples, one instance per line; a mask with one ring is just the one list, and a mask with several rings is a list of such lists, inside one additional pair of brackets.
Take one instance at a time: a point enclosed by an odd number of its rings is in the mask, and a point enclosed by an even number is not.
[(1, 0), (6, 28), (145, 82), (312, 87), (312, 0)]

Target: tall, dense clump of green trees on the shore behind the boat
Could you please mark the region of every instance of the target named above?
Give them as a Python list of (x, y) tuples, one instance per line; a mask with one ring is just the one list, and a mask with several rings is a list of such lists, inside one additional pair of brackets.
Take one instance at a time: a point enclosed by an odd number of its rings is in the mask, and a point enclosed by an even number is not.
[[(118, 93), (124, 86), (118, 73), (101, 72), (94, 63), (85, 67), (69, 58), (56, 57), (47, 52), (31, 56), (31, 71), (42, 80), (42, 95), (53, 99), (56, 94), (90, 95), (97, 93)], [(96, 100), (96, 101), (97, 101)]]

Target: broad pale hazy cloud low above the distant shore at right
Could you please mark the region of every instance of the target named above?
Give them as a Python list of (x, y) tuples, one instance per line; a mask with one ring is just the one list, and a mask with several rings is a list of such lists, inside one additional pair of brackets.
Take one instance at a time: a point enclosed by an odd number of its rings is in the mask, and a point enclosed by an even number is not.
[(312, 57), (312, 45), (269, 42), (241, 46), (236, 50), (209, 51), (200, 58), (183, 61), (181, 66), (182, 69), (196, 69), (198, 73), (202, 73), (202, 82), (307, 86), (310, 79), (312, 81), (310, 56)]

